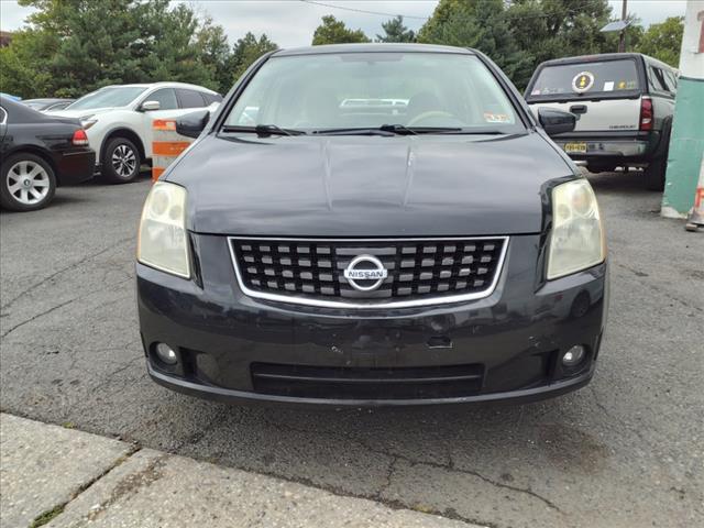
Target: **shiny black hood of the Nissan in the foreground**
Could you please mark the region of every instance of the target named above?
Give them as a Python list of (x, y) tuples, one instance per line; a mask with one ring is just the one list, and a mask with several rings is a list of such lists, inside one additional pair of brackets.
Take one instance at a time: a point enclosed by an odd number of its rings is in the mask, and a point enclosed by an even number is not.
[(571, 174), (537, 132), (209, 135), (166, 179), (187, 188), (199, 233), (442, 237), (540, 232), (543, 184)]

